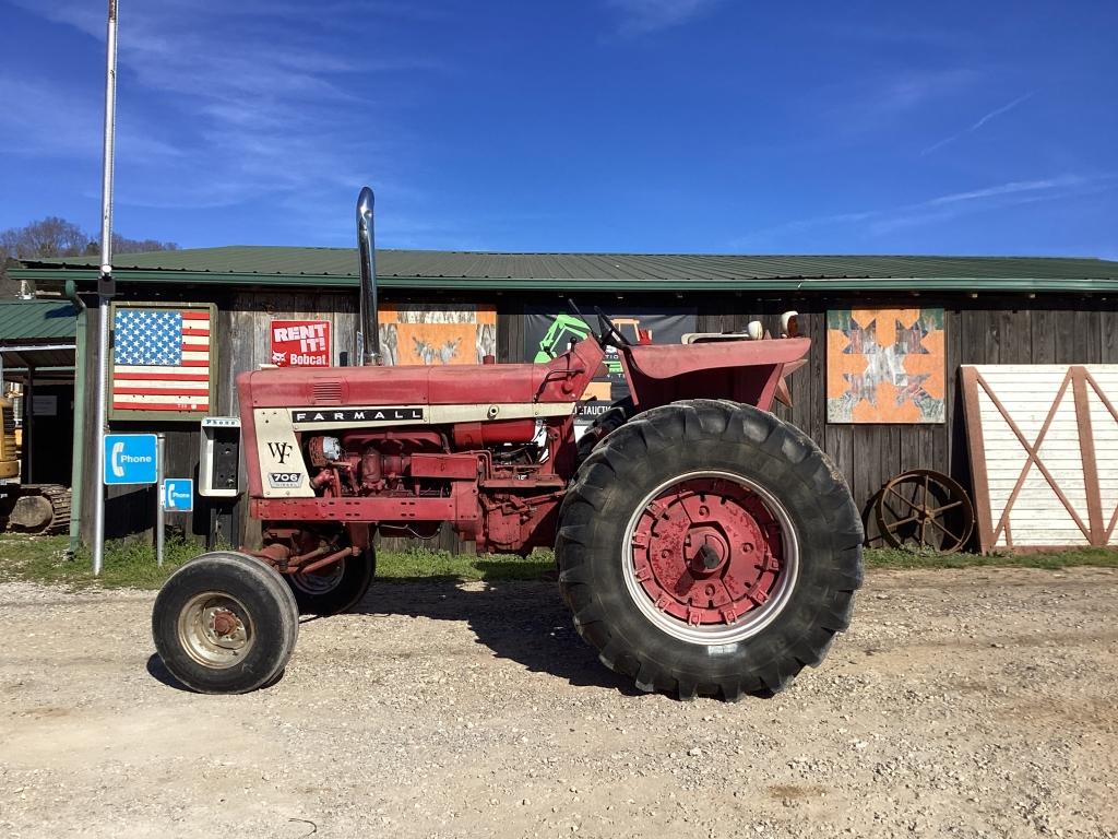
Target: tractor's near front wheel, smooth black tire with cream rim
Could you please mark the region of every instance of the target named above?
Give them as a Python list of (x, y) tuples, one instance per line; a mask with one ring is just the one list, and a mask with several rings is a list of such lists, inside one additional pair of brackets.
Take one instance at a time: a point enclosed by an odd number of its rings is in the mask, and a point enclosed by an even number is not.
[(163, 584), (151, 630), (163, 664), (191, 690), (247, 694), (278, 680), (299, 638), (299, 610), (271, 566), (215, 552)]

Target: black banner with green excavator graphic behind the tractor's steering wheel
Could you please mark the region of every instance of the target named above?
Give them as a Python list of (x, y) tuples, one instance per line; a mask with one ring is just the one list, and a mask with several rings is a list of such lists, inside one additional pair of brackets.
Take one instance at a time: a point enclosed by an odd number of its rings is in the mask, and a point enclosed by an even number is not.
[[(688, 332), (697, 329), (698, 315), (694, 309), (657, 309), (646, 307), (608, 305), (601, 310), (609, 315), (623, 336), (637, 342), (637, 330), (647, 332), (653, 343), (679, 343)], [(598, 331), (597, 315), (591, 309), (582, 313)], [(566, 307), (525, 307), (524, 309), (524, 360), (549, 361), (567, 351), (571, 340), (594, 340), (589, 337), (586, 322)], [(609, 403), (628, 396), (628, 385), (622, 373), (617, 351), (613, 348), (606, 355), (608, 375), (594, 380), (578, 406), (580, 425), (590, 423), (595, 416), (609, 407)]]

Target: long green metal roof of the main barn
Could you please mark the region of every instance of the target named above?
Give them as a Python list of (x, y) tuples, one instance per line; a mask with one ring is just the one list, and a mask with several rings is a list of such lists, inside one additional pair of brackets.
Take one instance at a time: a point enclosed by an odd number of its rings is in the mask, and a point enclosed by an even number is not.
[[(25, 261), (16, 277), (96, 277), (89, 257)], [(377, 252), (381, 285), (448, 290), (1118, 291), (1118, 262), (1069, 257), (736, 256)], [(126, 254), (120, 282), (353, 286), (356, 248), (229, 246)]]

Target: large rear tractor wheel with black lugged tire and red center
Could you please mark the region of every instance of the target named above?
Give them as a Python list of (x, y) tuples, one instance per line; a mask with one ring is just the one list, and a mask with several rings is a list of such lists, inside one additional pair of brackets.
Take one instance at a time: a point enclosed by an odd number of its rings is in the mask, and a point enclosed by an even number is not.
[(579, 634), (642, 690), (783, 689), (850, 624), (862, 521), (842, 474), (759, 408), (639, 414), (582, 463), (556, 559)]

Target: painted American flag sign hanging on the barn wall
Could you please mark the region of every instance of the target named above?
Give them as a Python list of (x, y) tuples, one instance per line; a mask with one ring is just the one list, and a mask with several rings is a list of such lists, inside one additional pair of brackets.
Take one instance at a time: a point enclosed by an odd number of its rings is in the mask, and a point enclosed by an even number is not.
[(210, 307), (119, 305), (113, 313), (112, 406), (163, 420), (210, 413)]

